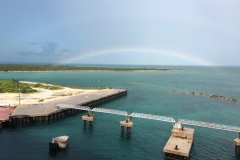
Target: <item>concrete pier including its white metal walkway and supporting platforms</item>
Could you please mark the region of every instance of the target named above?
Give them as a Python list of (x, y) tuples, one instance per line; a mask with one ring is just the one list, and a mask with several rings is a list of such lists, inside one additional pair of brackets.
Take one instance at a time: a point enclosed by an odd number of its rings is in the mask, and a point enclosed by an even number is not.
[[(135, 112), (129, 114), (126, 111), (98, 107), (93, 108), (93, 106), (110, 101), (120, 96), (124, 96), (126, 94), (127, 90), (103, 90), (92, 92), (91, 94), (81, 94), (57, 102), (36, 105), (21, 105), (12, 112), (12, 114), (9, 116), (8, 122), (12, 125), (48, 122), (59, 119), (65, 115), (75, 114), (85, 110), (88, 111), (88, 114), (82, 116), (83, 125), (86, 126), (88, 122), (89, 127), (92, 127), (94, 112), (116, 114), (126, 117), (126, 120), (120, 121), (120, 126), (122, 133), (125, 132), (125, 127), (127, 128), (127, 134), (131, 133), (133, 127), (133, 117), (172, 123), (173, 129), (171, 136), (163, 148), (166, 159), (187, 160), (189, 158), (193, 143), (194, 129), (182, 127), (182, 124), (238, 132), (239, 138), (236, 138), (233, 143), (235, 145), (235, 153), (237, 155), (240, 154), (240, 127), (237, 126), (187, 119), (178, 119), (178, 121), (176, 121), (172, 117)], [(49, 144), (49, 147), (55, 149), (56, 145), (51, 143)]]

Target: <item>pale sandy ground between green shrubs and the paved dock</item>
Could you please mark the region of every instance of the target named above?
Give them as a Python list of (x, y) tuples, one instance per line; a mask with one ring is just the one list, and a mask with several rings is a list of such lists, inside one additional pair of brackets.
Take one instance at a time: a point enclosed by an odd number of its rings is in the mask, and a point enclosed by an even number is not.
[[(22, 83), (36, 84), (38, 82), (21, 81)], [(43, 84), (43, 83), (42, 83)], [(46, 85), (46, 84), (45, 84)], [(47, 84), (50, 85), (50, 84)], [(59, 90), (49, 90), (43, 88), (33, 88), (37, 90), (36, 93), (24, 94), (20, 93), (20, 104), (41, 104), (51, 102), (55, 100), (66, 99), (74, 95), (90, 93), (96, 90), (83, 90), (73, 89), (68, 87), (62, 87)], [(19, 105), (19, 94), (18, 93), (0, 93), (0, 103), (7, 103), (10, 106)]]

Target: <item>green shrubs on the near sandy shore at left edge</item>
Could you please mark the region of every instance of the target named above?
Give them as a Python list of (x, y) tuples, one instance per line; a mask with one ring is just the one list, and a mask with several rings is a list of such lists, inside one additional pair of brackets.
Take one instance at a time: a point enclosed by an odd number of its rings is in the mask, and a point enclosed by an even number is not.
[(18, 93), (19, 89), (22, 93), (37, 92), (36, 90), (29, 87), (28, 84), (20, 83), (15, 79), (0, 81), (0, 93)]

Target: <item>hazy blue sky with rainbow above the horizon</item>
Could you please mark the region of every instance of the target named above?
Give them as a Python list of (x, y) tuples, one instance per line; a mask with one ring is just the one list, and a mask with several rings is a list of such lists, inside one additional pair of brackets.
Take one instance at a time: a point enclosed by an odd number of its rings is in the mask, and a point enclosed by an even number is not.
[(1, 0), (0, 63), (240, 66), (239, 0)]

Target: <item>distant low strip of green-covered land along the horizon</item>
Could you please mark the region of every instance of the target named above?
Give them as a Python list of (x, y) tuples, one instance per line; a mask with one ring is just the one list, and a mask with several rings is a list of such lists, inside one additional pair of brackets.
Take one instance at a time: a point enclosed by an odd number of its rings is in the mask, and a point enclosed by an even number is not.
[(0, 71), (169, 71), (172, 69), (155, 68), (105, 68), (105, 67), (77, 67), (69, 65), (40, 65), (40, 64), (0, 64)]

